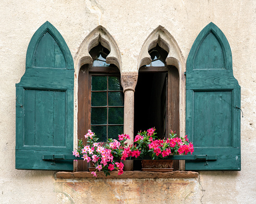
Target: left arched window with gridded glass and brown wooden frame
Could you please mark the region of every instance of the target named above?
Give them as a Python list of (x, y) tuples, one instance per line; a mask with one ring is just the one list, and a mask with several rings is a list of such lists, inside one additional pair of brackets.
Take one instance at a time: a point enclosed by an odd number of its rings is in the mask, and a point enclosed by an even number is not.
[(78, 135), (88, 129), (100, 142), (118, 139), (124, 131), (124, 93), (120, 71), (106, 63), (109, 50), (100, 43), (90, 52), (93, 64), (85, 64), (78, 76)]

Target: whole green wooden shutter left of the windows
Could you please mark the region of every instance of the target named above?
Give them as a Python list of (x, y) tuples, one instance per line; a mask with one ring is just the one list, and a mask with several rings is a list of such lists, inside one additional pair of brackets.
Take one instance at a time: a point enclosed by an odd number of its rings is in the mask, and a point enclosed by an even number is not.
[(25, 74), (16, 84), (17, 169), (73, 170), (72, 161), (42, 160), (72, 153), (73, 84), (70, 50), (46, 21), (31, 38)]

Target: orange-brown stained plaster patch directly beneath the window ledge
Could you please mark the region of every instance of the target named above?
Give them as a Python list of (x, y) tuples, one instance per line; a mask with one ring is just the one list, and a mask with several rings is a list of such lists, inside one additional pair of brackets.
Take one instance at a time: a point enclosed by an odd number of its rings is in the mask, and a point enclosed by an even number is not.
[(195, 179), (57, 180), (55, 187), (59, 201), (75, 203), (200, 203), (201, 199)]

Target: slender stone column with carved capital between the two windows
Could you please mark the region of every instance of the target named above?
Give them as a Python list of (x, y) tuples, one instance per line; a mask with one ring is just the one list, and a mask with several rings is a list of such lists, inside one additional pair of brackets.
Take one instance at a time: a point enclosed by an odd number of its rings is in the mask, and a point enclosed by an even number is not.
[[(128, 145), (134, 143), (134, 92), (137, 84), (138, 73), (122, 73), (121, 85), (124, 89), (124, 134), (130, 135)], [(124, 161), (124, 170), (132, 170), (133, 161)]]

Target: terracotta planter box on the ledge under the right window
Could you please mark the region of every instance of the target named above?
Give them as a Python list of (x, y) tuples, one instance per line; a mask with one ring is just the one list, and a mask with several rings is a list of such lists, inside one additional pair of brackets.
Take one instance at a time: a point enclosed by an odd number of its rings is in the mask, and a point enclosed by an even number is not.
[(173, 160), (142, 160), (142, 171), (172, 172)]

